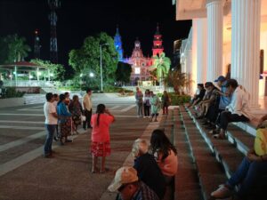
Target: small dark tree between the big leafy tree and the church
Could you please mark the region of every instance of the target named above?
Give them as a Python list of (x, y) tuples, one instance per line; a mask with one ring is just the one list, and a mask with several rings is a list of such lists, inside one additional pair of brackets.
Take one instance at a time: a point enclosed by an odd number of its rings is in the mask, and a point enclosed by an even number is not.
[(130, 64), (125, 62), (118, 62), (116, 70), (116, 81), (118, 82), (118, 85), (129, 83), (131, 72), (132, 67)]

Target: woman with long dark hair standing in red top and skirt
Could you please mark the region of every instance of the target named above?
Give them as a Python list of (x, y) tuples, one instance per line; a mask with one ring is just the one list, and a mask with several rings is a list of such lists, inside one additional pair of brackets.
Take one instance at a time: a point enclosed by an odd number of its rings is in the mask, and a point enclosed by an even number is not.
[(110, 155), (109, 125), (115, 121), (115, 117), (110, 114), (104, 104), (99, 104), (96, 113), (93, 114), (91, 125), (93, 127), (91, 136), (91, 153), (93, 156), (92, 172), (97, 172), (97, 160), (101, 157), (101, 170), (105, 172), (106, 156)]

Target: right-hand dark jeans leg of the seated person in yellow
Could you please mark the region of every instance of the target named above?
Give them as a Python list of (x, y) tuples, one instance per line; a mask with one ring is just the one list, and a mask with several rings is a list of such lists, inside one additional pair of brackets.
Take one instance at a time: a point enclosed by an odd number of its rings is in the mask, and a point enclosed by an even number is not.
[[(267, 174), (267, 162), (251, 162), (247, 169), (247, 174), (243, 178), (237, 196), (241, 199), (247, 196), (253, 187), (256, 186), (257, 180)], [(259, 186), (260, 187), (260, 186)]]

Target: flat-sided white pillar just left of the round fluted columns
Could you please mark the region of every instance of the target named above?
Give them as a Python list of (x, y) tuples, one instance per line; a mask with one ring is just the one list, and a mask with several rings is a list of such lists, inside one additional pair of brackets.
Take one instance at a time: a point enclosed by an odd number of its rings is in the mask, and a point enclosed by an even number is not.
[(206, 83), (206, 18), (197, 20), (197, 84)]

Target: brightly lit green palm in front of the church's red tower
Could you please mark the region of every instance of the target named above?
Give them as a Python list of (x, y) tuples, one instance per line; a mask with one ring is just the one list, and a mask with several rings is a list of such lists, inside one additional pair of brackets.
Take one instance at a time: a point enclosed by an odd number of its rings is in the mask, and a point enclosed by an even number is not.
[(165, 53), (162, 52), (159, 56), (154, 56), (154, 63), (152, 68), (157, 70), (157, 79), (159, 84), (163, 83), (164, 78), (167, 76), (171, 66), (171, 60), (165, 56)]

